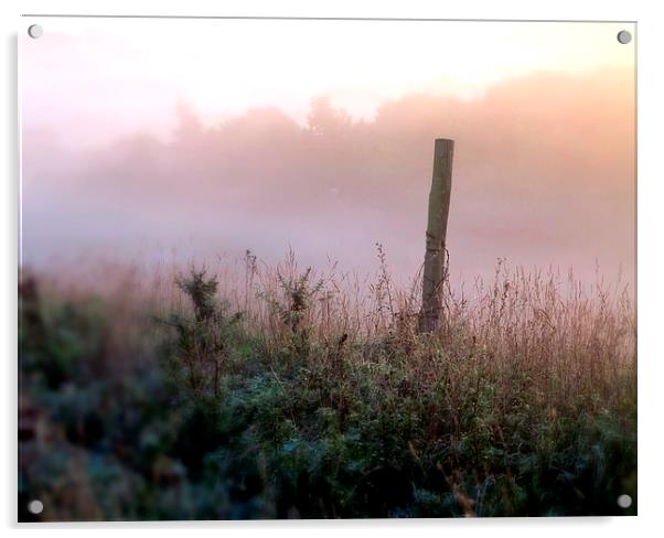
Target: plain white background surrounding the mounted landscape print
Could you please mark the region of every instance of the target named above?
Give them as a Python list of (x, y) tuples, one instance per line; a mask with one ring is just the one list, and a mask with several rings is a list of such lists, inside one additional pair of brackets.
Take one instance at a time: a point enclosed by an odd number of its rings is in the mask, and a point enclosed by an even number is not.
[[(662, 53), (664, 51), (664, 19), (658, 2), (653, 0), (586, 1), (556, 0), (475, 0), (443, 2), (426, 0), (324, 0), (312, 1), (212, 1), (212, 0), (85, 0), (22, 1), (0, 3), (0, 25), (3, 40), (3, 128), (0, 130), (0, 151), (3, 164), (2, 191), (2, 302), (0, 342), (6, 343), (2, 355), (0, 401), (2, 413), (0, 433), (0, 520), (15, 530), (15, 321), (17, 321), (17, 89), (15, 35), (22, 30), (20, 13), (85, 13), (85, 14), (161, 14), (161, 15), (275, 15), (275, 17), (379, 17), (438, 19), (527, 19), (527, 20), (621, 20), (638, 21), (639, 28), (639, 517), (636, 518), (566, 518), (566, 519), (485, 519), (485, 520), (366, 520), (366, 521), (249, 521), (201, 524), (79, 524), (49, 526), (50, 532), (69, 534), (73, 528), (85, 532), (96, 530), (157, 535), (196, 528), (207, 532), (229, 532), (242, 529), (270, 529), (282, 536), (293, 532), (404, 532), (437, 534), (463, 532), (464, 536), (555, 536), (572, 532), (601, 532), (620, 536), (628, 532), (658, 535), (658, 510), (664, 499), (662, 484), (662, 420), (661, 409), (664, 380), (661, 338), (664, 327), (664, 171), (662, 165)], [(29, 532), (34, 529), (30, 528)], [(661, 531), (661, 530), (660, 530)]]

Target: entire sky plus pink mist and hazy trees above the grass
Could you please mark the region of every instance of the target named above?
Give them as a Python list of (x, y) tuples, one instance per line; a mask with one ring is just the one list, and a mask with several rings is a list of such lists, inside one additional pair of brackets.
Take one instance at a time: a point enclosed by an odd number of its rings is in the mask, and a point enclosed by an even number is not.
[(631, 24), (26, 22), (24, 263), (292, 246), (365, 269), (378, 241), (408, 276), (447, 137), (460, 275), (504, 256), (633, 280)]

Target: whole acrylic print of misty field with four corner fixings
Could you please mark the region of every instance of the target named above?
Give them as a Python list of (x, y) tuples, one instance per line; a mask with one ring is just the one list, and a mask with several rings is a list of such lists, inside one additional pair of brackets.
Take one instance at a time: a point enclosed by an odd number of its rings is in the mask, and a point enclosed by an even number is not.
[(636, 514), (634, 23), (22, 22), (20, 520)]

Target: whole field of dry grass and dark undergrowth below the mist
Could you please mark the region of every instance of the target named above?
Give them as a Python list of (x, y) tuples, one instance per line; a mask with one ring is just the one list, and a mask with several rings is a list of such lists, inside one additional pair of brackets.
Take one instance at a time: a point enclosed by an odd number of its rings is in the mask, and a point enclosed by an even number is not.
[(499, 261), (419, 334), (419, 284), (378, 256), (366, 283), (250, 252), (117, 289), (25, 277), (20, 517), (635, 514), (628, 290)]

